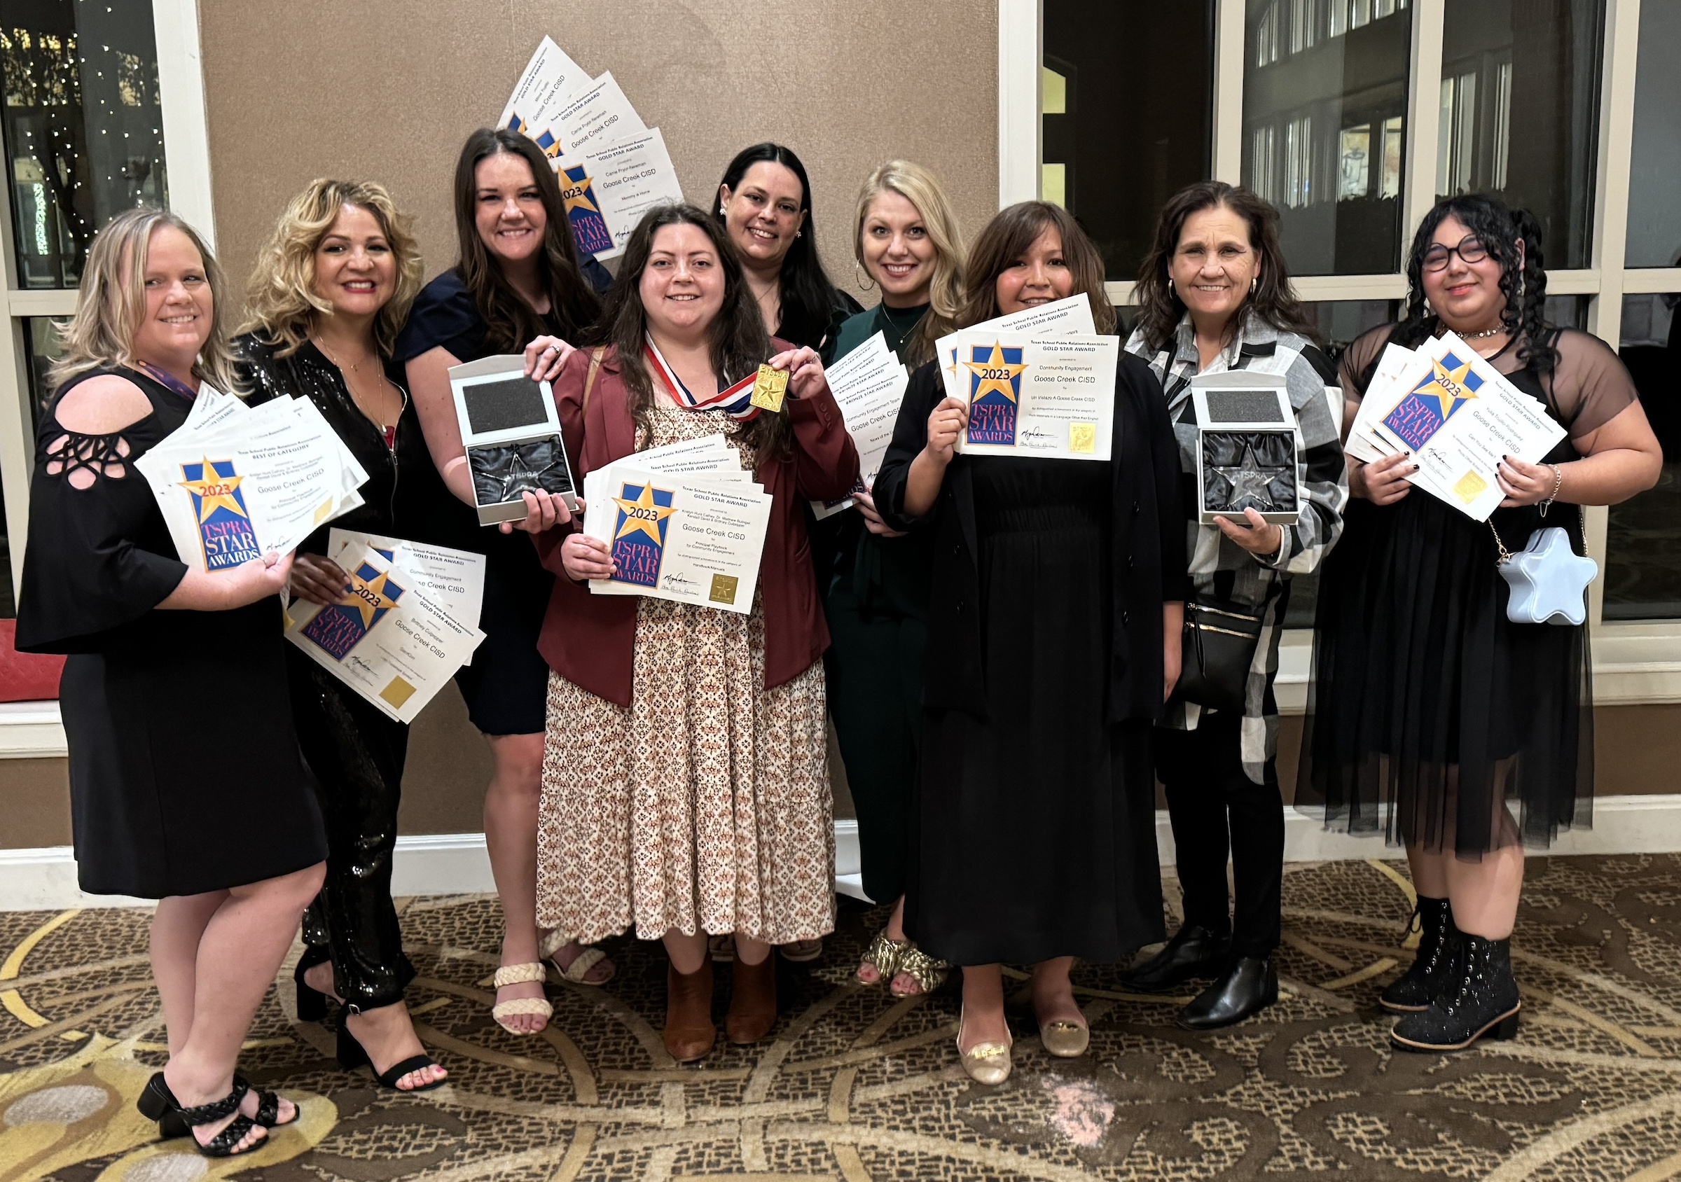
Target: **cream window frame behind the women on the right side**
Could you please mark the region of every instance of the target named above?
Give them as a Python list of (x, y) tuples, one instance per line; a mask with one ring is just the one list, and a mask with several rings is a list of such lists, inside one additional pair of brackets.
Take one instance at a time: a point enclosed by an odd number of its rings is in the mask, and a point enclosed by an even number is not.
[[(1410, 0), (1412, 57), (1407, 94), (1407, 158), (1402, 185), (1402, 242), (1410, 240), (1436, 203), (1437, 104), (1442, 82), (1446, 0)], [(1039, 197), (1039, 61), (1042, 0), (999, 0), (999, 207)], [(1217, 180), (1242, 182), (1246, 0), (1215, 0), (1214, 151)], [(1605, 0), (1600, 59), (1599, 158), (1594, 171), (1592, 266), (1550, 271), (1547, 289), (1589, 296), (1587, 326), (1615, 343), (1622, 296), (1681, 291), (1681, 267), (1626, 267), (1629, 166), (1634, 146), (1634, 91), (1641, 0)], [(1133, 303), (1131, 282), (1109, 282), (1116, 304)], [(1407, 276), (1304, 276), (1294, 281), (1304, 301), (1402, 299)], [(1604, 506), (1587, 509), (1589, 555), (1605, 570)], [(1604, 577), (1589, 588), (1597, 704), (1681, 703), (1681, 619), (1604, 620)], [(1313, 634), (1291, 629), (1279, 656), (1278, 696), (1284, 713), (1306, 698)]]

